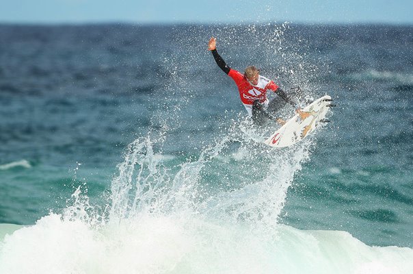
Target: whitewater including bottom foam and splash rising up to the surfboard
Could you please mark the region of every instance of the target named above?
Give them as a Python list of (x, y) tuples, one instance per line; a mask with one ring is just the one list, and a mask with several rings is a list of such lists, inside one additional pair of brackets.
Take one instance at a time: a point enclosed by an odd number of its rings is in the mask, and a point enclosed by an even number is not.
[[(154, 151), (159, 138), (138, 138), (118, 164), (103, 208), (90, 205), (79, 186), (61, 214), (35, 225), (1, 225), (0, 273), (412, 272), (412, 249), (277, 223), (314, 140), (274, 151), (256, 145), (254, 132), (239, 132), (244, 136), (232, 132), (198, 159), (174, 166)], [(254, 162), (267, 172), (242, 186), (201, 184), (228, 162)]]

